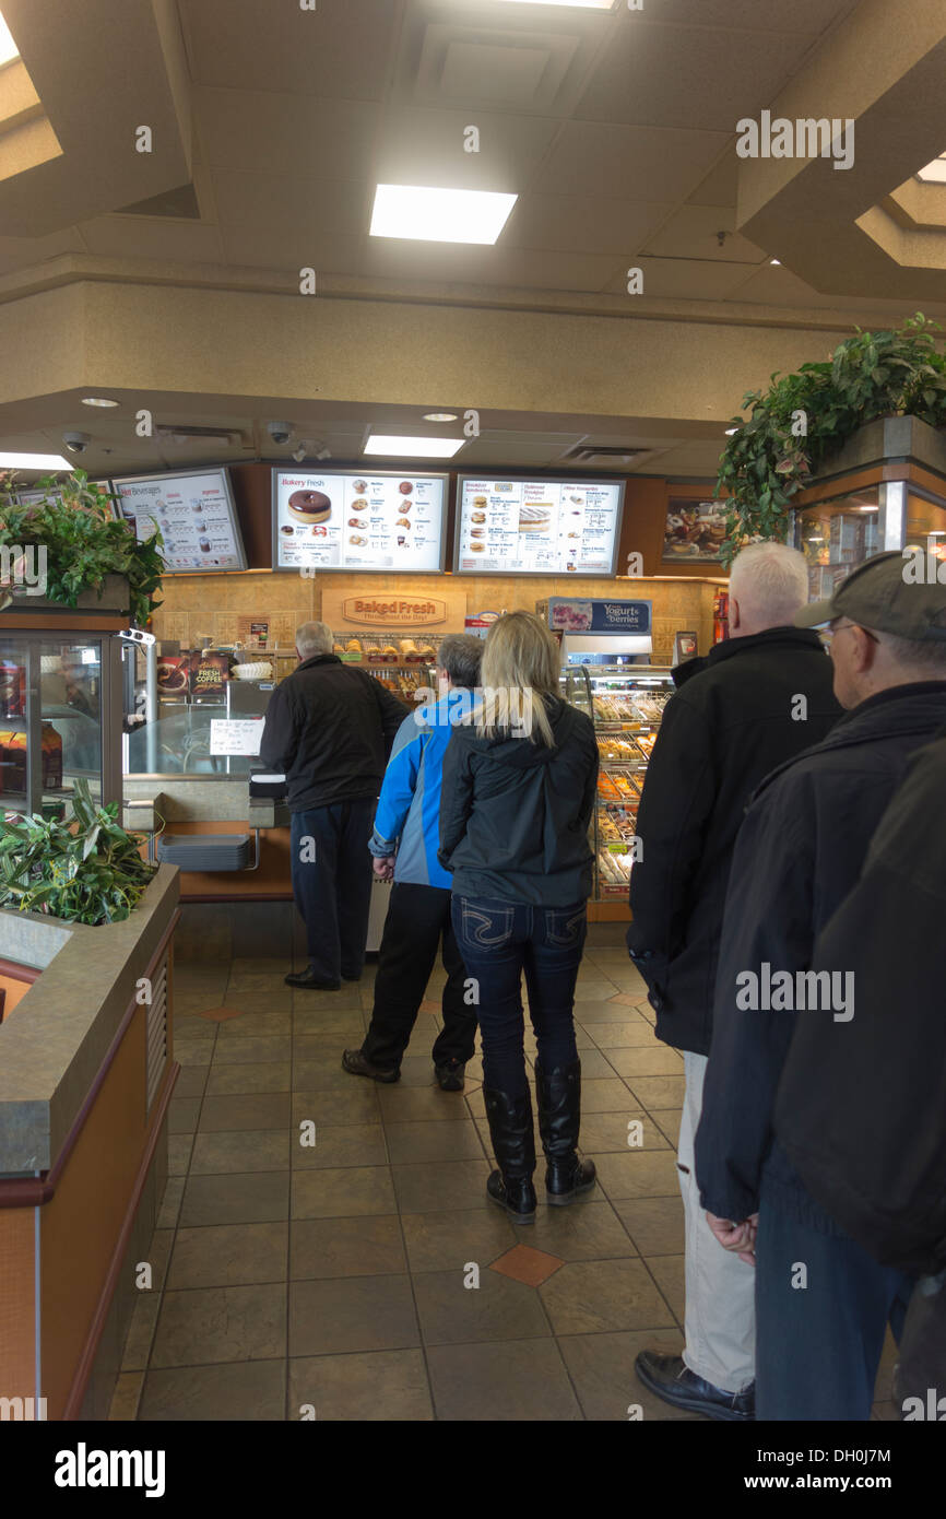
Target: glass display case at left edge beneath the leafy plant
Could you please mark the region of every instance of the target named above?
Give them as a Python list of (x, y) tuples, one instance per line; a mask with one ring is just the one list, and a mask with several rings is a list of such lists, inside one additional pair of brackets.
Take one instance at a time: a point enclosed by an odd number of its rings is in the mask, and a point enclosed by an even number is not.
[(0, 626), (0, 807), (61, 817), (77, 779), (121, 794), (121, 646), (111, 633)]

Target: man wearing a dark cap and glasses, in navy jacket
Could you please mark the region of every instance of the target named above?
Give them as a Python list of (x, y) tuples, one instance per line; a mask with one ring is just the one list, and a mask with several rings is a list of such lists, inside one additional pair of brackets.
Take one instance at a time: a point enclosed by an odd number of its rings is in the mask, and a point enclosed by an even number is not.
[(907, 551), (879, 554), (796, 623), (826, 629), (846, 714), (767, 776), (736, 840), (695, 1168), (717, 1240), (756, 1265), (756, 1419), (867, 1420), (913, 1284), (809, 1195), (773, 1107), (796, 1016), (856, 1018), (850, 975), (805, 972), (911, 753), (946, 722), (946, 585), (916, 583)]

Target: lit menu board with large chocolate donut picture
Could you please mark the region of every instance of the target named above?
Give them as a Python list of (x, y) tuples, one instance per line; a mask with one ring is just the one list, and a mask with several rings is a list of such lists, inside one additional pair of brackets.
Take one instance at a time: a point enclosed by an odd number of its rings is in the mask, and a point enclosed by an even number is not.
[(273, 469), (275, 570), (443, 568), (446, 475)]

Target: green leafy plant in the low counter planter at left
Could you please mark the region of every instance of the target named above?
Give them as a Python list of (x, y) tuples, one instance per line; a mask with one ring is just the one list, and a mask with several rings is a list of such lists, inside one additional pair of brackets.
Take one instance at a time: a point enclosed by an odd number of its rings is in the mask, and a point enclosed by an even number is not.
[(76, 781), (62, 820), (0, 816), (0, 908), (93, 925), (129, 917), (158, 867), (117, 816), (117, 802), (93, 801), (88, 781)]

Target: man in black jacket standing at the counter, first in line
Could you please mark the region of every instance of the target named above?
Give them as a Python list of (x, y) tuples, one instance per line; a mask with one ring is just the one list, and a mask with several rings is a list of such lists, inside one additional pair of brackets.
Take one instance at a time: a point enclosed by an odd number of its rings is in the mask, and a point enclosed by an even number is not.
[(296, 630), (299, 667), (273, 691), (260, 760), (287, 778), (293, 896), (308, 969), (287, 986), (337, 992), (364, 965), (375, 802), (407, 706), (333, 655), (325, 623)]

